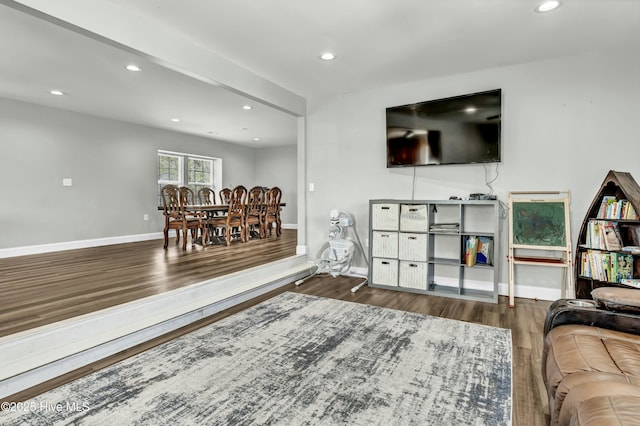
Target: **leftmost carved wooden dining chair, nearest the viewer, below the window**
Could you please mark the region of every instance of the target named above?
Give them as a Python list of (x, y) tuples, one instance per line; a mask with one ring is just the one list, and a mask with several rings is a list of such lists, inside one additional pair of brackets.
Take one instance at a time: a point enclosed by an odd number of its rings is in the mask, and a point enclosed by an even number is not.
[(162, 203), (164, 207), (164, 248), (169, 246), (169, 230), (176, 230), (176, 244), (180, 243), (180, 232), (182, 231), (182, 249), (187, 248), (188, 231), (192, 230), (191, 244), (195, 244), (195, 234), (198, 229), (204, 230), (204, 222), (200, 216), (194, 216), (188, 212), (187, 206), (188, 192), (183, 191), (176, 185), (165, 185), (161, 189)]

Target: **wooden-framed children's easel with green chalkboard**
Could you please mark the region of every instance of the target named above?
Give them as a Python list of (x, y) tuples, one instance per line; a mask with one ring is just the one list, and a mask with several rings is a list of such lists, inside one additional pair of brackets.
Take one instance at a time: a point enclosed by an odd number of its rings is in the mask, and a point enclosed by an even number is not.
[[(509, 192), (509, 307), (513, 308), (515, 265), (551, 266), (562, 271), (561, 297), (574, 297), (569, 191)], [(518, 254), (526, 251), (527, 254)], [(536, 251), (551, 256), (531, 255)], [(546, 253), (545, 253), (546, 254)]]

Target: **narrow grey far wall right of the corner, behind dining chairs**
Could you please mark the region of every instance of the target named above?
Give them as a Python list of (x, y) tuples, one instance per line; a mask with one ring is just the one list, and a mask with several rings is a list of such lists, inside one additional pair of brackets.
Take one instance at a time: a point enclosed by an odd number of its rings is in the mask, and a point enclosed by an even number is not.
[(277, 186), (282, 190), (282, 223), (298, 223), (298, 191), (296, 146), (256, 149), (256, 185)]

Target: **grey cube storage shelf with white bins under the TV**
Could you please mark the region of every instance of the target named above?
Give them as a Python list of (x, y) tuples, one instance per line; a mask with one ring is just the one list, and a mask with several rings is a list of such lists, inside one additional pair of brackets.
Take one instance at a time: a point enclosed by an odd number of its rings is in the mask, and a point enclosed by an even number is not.
[[(370, 200), (369, 286), (497, 303), (499, 209), (494, 200)], [(467, 264), (472, 237), (489, 261)]]

